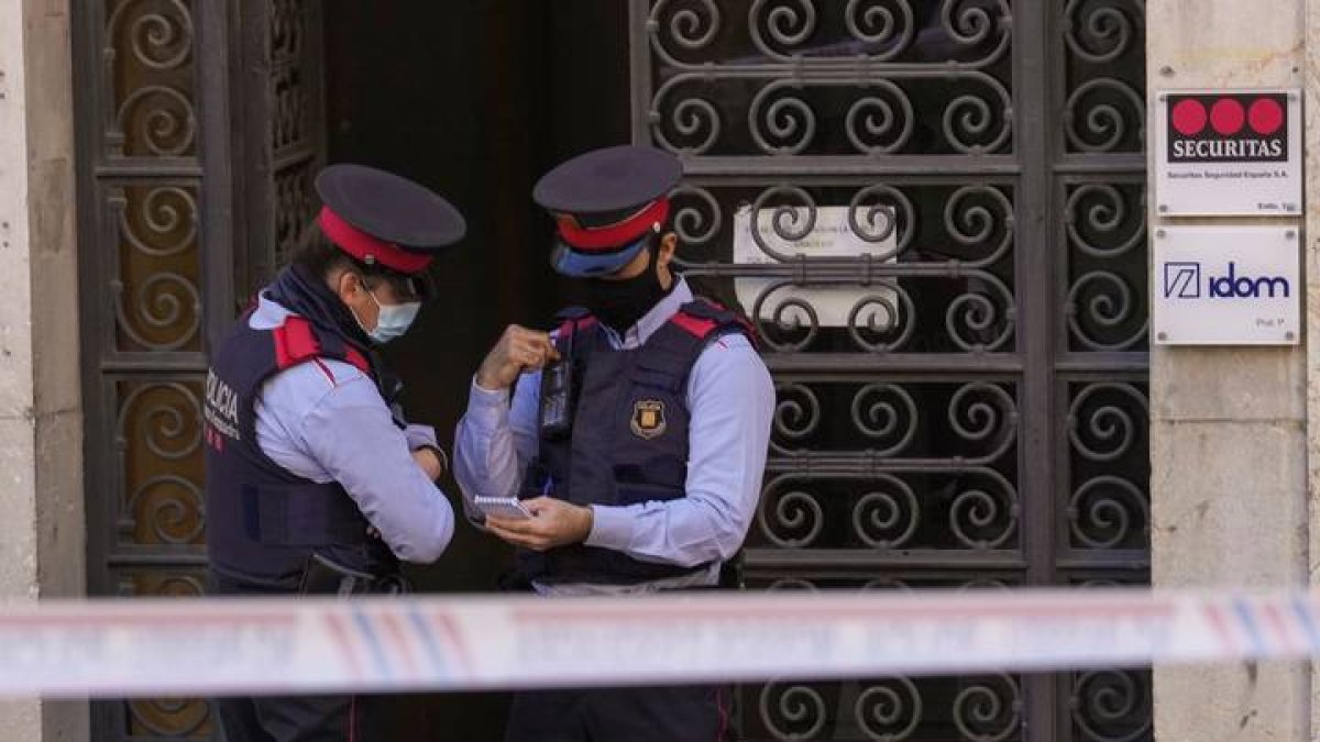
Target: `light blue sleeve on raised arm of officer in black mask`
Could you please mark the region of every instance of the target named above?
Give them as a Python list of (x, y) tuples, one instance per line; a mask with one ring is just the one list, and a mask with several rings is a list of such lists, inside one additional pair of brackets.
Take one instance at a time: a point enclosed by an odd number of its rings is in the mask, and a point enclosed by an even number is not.
[(524, 374), (510, 404), (508, 389), (484, 389), (473, 380), (467, 413), (454, 436), (454, 479), (471, 522), (482, 522), (473, 498), (517, 496), (527, 465), (536, 454), (540, 389), (541, 374)]

